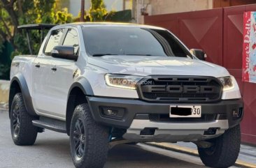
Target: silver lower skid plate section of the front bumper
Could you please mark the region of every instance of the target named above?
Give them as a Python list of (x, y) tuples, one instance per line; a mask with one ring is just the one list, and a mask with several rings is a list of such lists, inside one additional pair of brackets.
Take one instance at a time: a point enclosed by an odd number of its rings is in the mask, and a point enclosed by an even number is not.
[[(148, 128), (154, 128), (151, 135), (142, 135)], [(157, 123), (148, 120), (132, 121), (122, 136), (131, 142), (197, 142), (222, 135), (229, 128), (227, 120), (207, 123)], [(207, 134), (209, 129), (214, 130)]]

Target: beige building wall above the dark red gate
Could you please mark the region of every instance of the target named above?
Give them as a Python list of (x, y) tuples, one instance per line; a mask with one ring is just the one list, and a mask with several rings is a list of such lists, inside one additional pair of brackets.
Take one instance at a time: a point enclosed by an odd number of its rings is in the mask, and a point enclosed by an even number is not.
[(143, 15), (162, 15), (208, 10), (256, 3), (256, 0), (134, 0), (134, 20), (143, 24)]

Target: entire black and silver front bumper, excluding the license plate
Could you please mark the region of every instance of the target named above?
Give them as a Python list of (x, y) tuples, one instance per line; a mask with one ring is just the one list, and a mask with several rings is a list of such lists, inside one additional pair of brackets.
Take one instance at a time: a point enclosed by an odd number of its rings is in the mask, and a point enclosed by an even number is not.
[[(98, 123), (127, 129), (122, 135), (131, 142), (197, 142), (222, 135), (243, 118), (243, 100), (211, 103), (154, 103), (136, 99), (87, 97), (92, 116)], [(171, 119), (170, 105), (201, 105), (200, 119)], [(118, 112), (115, 116), (106, 110)], [(239, 109), (239, 117), (232, 112)], [(105, 110), (105, 111), (104, 111)]]

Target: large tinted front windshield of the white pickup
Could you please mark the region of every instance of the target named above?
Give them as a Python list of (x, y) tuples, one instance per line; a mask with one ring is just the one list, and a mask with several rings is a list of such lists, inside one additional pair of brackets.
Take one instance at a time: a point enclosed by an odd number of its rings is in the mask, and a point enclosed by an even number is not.
[(134, 26), (83, 27), (85, 49), (90, 56), (143, 55), (192, 57), (171, 33)]

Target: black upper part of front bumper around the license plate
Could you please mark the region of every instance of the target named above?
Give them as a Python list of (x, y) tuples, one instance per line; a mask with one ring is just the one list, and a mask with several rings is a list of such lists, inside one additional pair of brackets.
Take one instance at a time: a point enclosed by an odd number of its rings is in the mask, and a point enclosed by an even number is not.
[[(124, 98), (102, 98), (102, 97), (87, 97), (87, 102), (90, 106), (92, 116), (95, 121), (104, 125), (110, 125), (115, 128), (130, 128), (131, 123), (137, 120), (148, 120), (150, 122), (157, 123), (187, 123), (188, 128), (192, 125), (198, 125), (199, 123), (211, 123), (215, 121), (225, 120), (228, 121), (228, 127), (232, 128), (239, 124), (243, 118), (243, 100), (222, 100), (220, 102), (211, 103), (160, 103), (160, 102), (145, 102), (138, 99), (124, 99)], [(206, 116), (206, 120), (191, 120), (184, 119), (177, 121), (157, 120), (155, 116), (169, 116), (170, 105), (201, 105), (201, 114)], [(120, 111), (118, 116), (106, 116), (102, 112), (103, 109), (113, 109)], [(234, 109), (240, 109), (239, 117), (234, 119), (232, 111)], [(211, 116), (209, 119), (208, 116)], [(214, 119), (212, 118), (214, 117)], [(191, 126), (189, 126), (191, 125)], [(171, 125), (170, 125), (171, 126)], [(172, 126), (170, 127), (172, 128)]]

